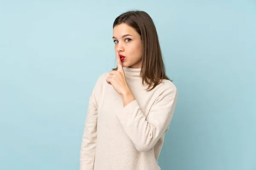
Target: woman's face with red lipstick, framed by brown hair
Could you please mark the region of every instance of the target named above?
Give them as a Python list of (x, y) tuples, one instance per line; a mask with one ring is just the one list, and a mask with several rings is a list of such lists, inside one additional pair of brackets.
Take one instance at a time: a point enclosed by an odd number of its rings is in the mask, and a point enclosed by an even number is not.
[(115, 50), (125, 59), (123, 67), (141, 68), (142, 65), (142, 42), (140, 34), (125, 23), (116, 25), (113, 29), (113, 41)]

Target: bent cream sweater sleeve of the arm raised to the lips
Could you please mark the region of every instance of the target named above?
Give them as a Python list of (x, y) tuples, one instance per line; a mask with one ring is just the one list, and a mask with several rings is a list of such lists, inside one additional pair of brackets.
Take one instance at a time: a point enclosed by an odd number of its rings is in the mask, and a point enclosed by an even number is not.
[(177, 89), (163, 91), (145, 117), (135, 99), (116, 118), (139, 152), (150, 150), (168, 130), (177, 102)]

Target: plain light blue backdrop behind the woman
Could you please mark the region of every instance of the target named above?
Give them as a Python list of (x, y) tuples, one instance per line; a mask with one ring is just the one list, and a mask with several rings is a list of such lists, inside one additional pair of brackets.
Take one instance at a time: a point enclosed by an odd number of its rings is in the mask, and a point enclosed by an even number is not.
[(154, 20), (179, 91), (162, 170), (256, 170), (255, 0), (0, 1), (0, 170), (78, 170), (113, 21)]

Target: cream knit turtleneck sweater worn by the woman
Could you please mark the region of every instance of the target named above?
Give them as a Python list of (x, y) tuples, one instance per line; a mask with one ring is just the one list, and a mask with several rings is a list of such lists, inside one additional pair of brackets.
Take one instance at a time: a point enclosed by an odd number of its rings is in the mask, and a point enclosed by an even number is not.
[(122, 98), (102, 74), (90, 95), (80, 152), (80, 170), (160, 170), (157, 159), (177, 101), (177, 88), (164, 80), (145, 91), (141, 68), (123, 67), (135, 100)]

